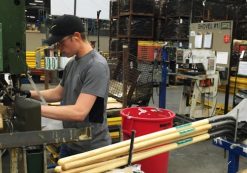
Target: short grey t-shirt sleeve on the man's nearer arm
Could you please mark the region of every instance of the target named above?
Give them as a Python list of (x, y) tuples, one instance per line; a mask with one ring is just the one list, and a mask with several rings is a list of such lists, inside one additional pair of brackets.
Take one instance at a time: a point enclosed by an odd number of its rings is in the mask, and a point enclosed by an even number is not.
[(94, 62), (87, 71), (81, 93), (92, 94), (104, 98), (109, 81), (109, 70), (106, 64)]

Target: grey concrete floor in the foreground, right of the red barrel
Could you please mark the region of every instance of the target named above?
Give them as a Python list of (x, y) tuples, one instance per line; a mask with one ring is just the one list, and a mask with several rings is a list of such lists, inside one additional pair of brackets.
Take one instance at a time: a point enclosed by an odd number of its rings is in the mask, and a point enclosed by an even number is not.
[[(170, 152), (168, 173), (227, 173), (228, 157), (212, 140)], [(247, 169), (247, 158), (241, 157), (239, 170)]]

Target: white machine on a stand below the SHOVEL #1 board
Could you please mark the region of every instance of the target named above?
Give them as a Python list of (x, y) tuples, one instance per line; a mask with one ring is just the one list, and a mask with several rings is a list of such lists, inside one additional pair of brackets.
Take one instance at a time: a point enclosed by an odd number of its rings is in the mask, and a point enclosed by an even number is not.
[(219, 83), (215, 52), (178, 49), (176, 55), (177, 76), (184, 80), (178, 114), (189, 115), (192, 119), (213, 116)]

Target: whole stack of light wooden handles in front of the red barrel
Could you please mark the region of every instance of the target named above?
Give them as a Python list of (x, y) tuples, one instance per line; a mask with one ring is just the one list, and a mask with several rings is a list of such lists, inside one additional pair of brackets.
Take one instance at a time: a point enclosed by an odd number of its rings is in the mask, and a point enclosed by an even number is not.
[[(167, 151), (184, 147), (210, 138), (212, 128), (208, 119), (173, 127), (136, 137), (132, 162), (140, 161)], [(62, 158), (55, 172), (100, 173), (127, 165), (130, 140), (103, 148)]]

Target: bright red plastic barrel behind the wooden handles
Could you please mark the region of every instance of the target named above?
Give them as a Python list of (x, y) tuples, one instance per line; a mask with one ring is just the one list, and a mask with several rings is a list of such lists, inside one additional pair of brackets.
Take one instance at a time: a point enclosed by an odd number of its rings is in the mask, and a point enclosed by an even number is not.
[[(153, 107), (131, 107), (121, 110), (123, 139), (130, 139), (131, 131), (136, 137), (164, 130), (173, 126), (175, 113), (167, 109)], [(169, 153), (144, 159), (141, 169), (145, 173), (167, 173)]]

